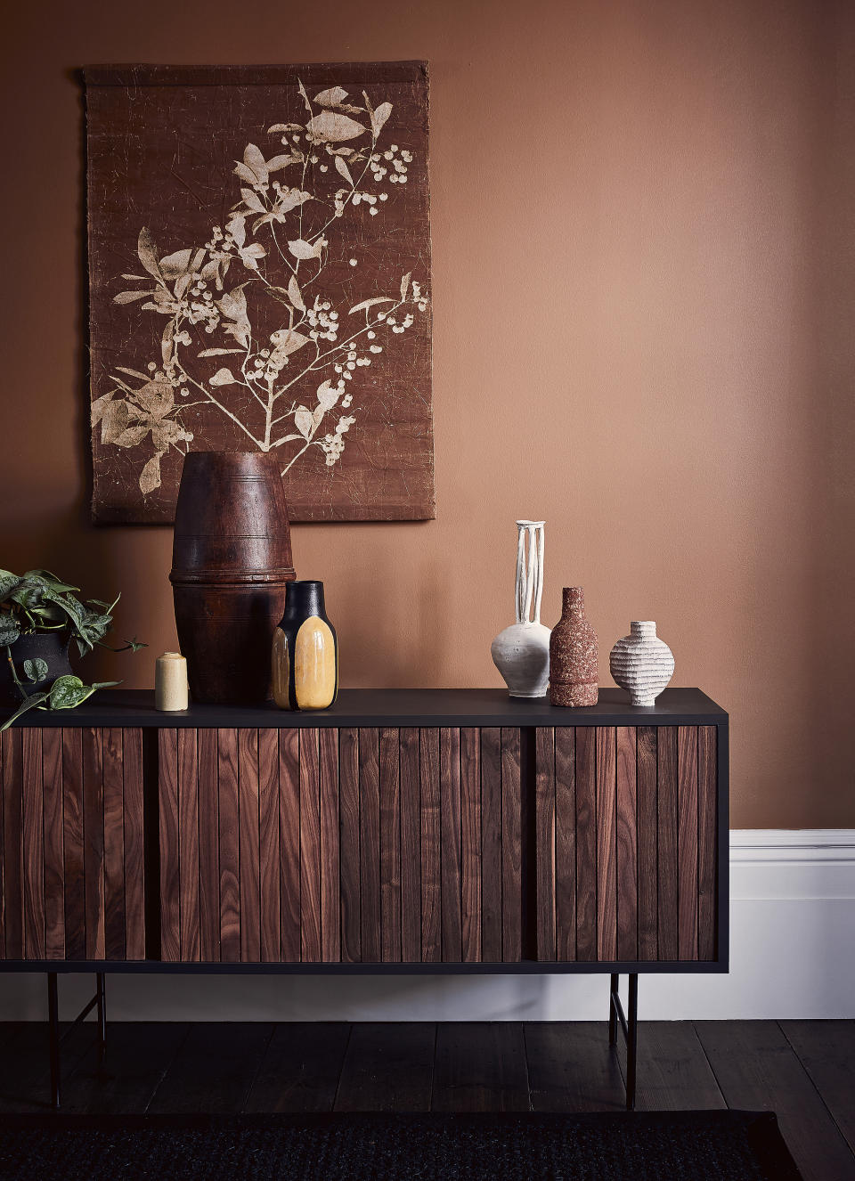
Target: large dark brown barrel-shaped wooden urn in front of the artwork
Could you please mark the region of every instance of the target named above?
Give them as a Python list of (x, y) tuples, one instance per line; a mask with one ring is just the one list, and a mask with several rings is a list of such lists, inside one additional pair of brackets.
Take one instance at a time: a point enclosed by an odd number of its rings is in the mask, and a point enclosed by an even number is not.
[(273, 631), (294, 578), (279, 456), (191, 451), (170, 581), (195, 702), (250, 705), (269, 697)]

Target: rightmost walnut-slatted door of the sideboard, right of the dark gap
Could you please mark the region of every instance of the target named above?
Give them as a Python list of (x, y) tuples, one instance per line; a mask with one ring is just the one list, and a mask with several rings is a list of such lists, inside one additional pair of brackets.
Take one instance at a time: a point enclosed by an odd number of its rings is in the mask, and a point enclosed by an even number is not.
[(534, 801), (540, 960), (716, 958), (714, 726), (539, 729)]

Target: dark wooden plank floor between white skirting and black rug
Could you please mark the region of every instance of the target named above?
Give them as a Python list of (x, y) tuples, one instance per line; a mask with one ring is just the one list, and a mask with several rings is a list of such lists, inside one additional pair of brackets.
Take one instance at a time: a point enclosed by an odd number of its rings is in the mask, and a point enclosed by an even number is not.
[[(602, 1111), (606, 1023), (111, 1024), (63, 1048), (65, 1111)], [(638, 1107), (769, 1109), (807, 1181), (855, 1179), (855, 1022), (642, 1022)], [(47, 1031), (0, 1024), (0, 1111), (47, 1107)]]

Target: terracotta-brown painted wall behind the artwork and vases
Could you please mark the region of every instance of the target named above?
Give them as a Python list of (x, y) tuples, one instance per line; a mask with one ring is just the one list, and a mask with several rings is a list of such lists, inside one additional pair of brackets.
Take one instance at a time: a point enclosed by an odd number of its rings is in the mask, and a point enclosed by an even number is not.
[(732, 711), (736, 827), (855, 826), (853, 25), (818, 0), (48, 0), (5, 15), (2, 565), (122, 588), (152, 681), (167, 529), (86, 521), (84, 63), (428, 58), (437, 520), (299, 526), (346, 685), (497, 685), (514, 520), (544, 615), (657, 619)]

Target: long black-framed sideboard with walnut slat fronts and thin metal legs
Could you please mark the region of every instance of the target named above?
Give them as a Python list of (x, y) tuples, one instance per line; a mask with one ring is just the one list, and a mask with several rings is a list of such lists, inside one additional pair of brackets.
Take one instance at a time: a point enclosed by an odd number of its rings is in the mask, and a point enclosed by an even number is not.
[[(0, 735), (0, 971), (727, 971), (727, 716), (103, 691)], [(634, 1029), (635, 993), (631, 992)], [(625, 1029), (626, 1031), (626, 1029)], [(57, 1092), (58, 1094), (58, 1092)]]

